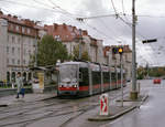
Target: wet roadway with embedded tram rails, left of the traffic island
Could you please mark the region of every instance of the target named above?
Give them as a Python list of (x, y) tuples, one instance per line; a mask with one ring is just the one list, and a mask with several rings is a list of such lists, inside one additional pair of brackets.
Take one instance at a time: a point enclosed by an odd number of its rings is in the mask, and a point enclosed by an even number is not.
[[(129, 87), (125, 87), (124, 93), (128, 92)], [(113, 100), (121, 96), (121, 92), (120, 89), (109, 92), (109, 96)], [(54, 98), (33, 103), (15, 100), (15, 105), (0, 108), (0, 127), (64, 127), (74, 119), (86, 116), (84, 114), (90, 113), (98, 105), (99, 95), (79, 99)], [(78, 127), (79, 124), (76, 126)]]

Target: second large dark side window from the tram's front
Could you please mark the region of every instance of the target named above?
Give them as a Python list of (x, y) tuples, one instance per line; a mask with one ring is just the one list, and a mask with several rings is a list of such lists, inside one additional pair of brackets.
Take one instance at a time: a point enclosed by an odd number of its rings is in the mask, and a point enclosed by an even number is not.
[(92, 84), (97, 85), (101, 83), (101, 73), (100, 72), (92, 72)]

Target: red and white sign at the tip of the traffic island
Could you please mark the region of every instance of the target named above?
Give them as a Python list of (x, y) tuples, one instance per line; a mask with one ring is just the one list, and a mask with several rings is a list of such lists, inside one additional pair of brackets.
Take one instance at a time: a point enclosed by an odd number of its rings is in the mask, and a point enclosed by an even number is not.
[(109, 115), (108, 94), (100, 96), (100, 115)]

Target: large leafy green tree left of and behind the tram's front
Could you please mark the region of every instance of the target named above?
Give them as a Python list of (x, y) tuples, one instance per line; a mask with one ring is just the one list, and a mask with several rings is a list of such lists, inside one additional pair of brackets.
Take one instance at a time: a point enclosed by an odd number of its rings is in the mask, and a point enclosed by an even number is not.
[[(34, 64), (35, 56), (32, 56), (32, 64)], [(44, 35), (37, 43), (37, 65), (54, 65), (57, 60), (62, 62), (68, 59), (67, 49), (62, 42), (56, 41), (52, 35)]]

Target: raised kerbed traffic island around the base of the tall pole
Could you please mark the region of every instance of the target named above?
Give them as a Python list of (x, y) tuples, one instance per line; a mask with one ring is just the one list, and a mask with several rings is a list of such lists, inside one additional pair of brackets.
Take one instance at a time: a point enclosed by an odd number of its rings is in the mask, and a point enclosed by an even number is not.
[(109, 105), (109, 115), (99, 115), (99, 113), (96, 113), (96, 115), (89, 117), (88, 120), (105, 121), (117, 119), (120, 116), (135, 108), (140, 108), (140, 106), (146, 100), (147, 97), (148, 97), (147, 94), (143, 94), (139, 96), (139, 99), (131, 100), (129, 96), (125, 96), (123, 98), (123, 106), (121, 106), (121, 99), (117, 99), (116, 103)]

